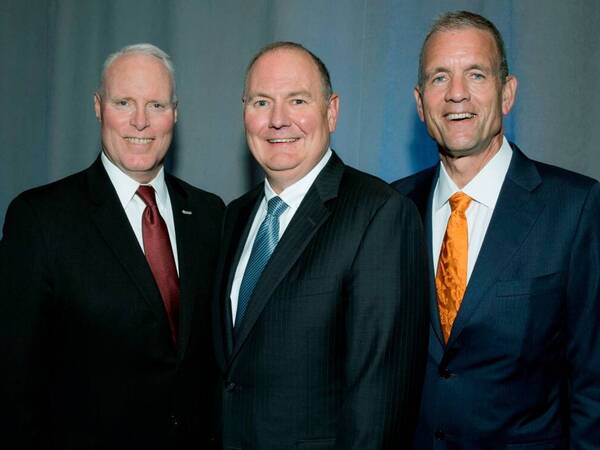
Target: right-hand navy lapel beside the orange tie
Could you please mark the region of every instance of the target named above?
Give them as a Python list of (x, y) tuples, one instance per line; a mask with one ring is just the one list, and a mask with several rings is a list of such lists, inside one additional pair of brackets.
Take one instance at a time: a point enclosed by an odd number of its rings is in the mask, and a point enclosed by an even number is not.
[(484, 299), (493, 301), (492, 285), (510, 263), (539, 217), (544, 204), (533, 200), (541, 183), (535, 165), (513, 145), (513, 156), (496, 208), (471, 274), (448, 346), (456, 340)]

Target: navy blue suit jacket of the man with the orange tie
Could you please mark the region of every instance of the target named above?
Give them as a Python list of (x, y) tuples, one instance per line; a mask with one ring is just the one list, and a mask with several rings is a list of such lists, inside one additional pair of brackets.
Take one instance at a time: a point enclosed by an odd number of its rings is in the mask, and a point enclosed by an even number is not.
[[(447, 345), (431, 295), (418, 450), (600, 448), (600, 185), (512, 147)], [(421, 212), (432, 274), (438, 170), (393, 183)]]

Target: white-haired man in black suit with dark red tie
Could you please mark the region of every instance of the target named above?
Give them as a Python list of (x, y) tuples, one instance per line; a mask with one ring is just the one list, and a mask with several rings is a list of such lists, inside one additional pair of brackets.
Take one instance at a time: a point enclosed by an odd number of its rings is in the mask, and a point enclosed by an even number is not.
[(3, 447), (210, 448), (223, 203), (163, 170), (177, 120), (166, 53), (110, 55), (94, 106), (96, 161), (6, 214)]

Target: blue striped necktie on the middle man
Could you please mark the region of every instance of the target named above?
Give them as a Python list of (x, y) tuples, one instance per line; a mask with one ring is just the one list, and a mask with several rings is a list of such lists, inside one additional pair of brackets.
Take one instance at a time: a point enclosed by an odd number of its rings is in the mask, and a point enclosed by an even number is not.
[(235, 315), (235, 327), (237, 327), (244, 318), (246, 308), (250, 302), (250, 297), (254, 291), (254, 286), (263, 269), (267, 265), (273, 250), (279, 241), (279, 216), (287, 209), (287, 204), (279, 197), (273, 197), (267, 203), (267, 216), (260, 224), (252, 252), (248, 259), (248, 265), (240, 285), (238, 295), (238, 308)]

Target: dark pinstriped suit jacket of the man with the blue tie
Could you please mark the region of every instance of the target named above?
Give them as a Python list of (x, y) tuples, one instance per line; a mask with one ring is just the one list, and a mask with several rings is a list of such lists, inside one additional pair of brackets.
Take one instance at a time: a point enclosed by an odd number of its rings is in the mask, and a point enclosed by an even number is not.
[(426, 346), (418, 213), (334, 154), (306, 194), (232, 329), (230, 290), (263, 197), (229, 205), (215, 305), (223, 447), (406, 448)]

